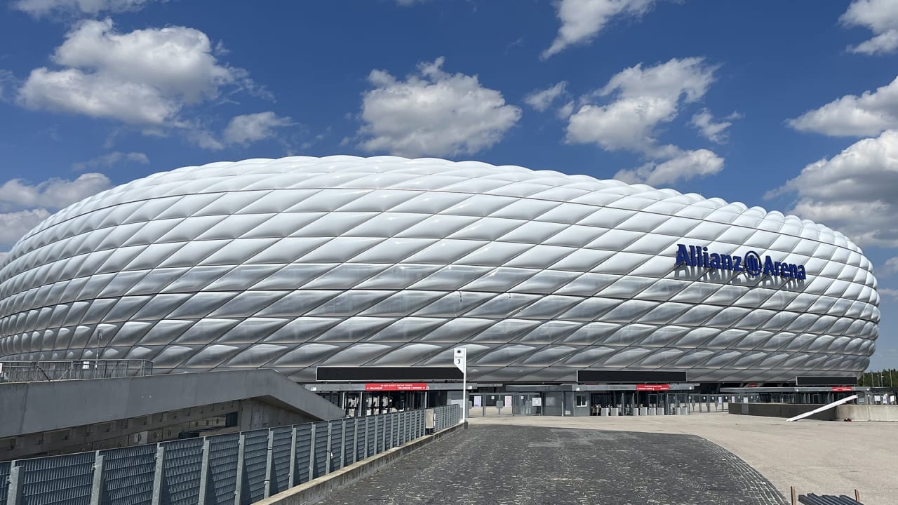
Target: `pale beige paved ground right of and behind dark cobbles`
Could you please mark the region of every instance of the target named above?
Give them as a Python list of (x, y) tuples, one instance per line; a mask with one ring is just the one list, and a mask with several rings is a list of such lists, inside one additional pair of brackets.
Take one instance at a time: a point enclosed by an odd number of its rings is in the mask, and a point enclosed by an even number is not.
[(743, 459), (784, 496), (860, 491), (865, 505), (898, 503), (898, 422), (796, 421), (721, 413), (647, 417), (472, 417), (471, 425), (525, 425), (697, 435)]

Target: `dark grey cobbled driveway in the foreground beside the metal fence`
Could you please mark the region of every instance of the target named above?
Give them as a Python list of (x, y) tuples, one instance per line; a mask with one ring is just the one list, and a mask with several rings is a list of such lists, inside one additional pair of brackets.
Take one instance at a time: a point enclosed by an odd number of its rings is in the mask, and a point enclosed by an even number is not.
[(475, 421), (321, 503), (786, 503), (761, 474), (706, 439), (538, 426), (555, 419)]

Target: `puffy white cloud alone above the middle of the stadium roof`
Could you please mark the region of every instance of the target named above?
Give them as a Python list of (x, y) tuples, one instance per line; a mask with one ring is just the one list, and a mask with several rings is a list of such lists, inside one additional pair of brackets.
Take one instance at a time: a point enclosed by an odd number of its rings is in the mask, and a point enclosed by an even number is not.
[(476, 75), (446, 73), (443, 63), (422, 63), (405, 81), (371, 71), (374, 89), (362, 99), (360, 148), (405, 156), (473, 154), (515, 126), (519, 107), (481, 86)]

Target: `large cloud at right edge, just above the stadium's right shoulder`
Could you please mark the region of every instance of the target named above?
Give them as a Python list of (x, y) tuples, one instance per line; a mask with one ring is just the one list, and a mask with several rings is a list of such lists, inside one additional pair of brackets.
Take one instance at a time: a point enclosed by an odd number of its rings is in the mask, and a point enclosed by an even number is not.
[(860, 245), (898, 246), (898, 130), (865, 138), (808, 164), (765, 198), (797, 194), (791, 212), (840, 230)]

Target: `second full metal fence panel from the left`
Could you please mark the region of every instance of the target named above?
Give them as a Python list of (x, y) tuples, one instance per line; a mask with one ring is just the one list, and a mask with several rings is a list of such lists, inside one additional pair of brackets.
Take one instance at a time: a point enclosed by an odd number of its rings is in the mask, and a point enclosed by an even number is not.
[(103, 456), (101, 503), (139, 505), (153, 502), (156, 446), (121, 447)]

